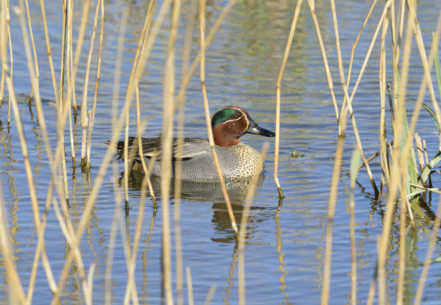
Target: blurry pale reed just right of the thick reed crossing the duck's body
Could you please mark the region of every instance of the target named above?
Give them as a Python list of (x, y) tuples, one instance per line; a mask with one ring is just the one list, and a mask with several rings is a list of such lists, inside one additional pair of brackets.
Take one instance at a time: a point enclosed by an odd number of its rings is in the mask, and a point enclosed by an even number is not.
[[(197, 0), (190, 0), (190, 8), (187, 19), (187, 27), (185, 29), (184, 37), (184, 50), (182, 54), (182, 69), (181, 69), (181, 82), (182, 76), (188, 71), (190, 65), (190, 52), (191, 52), (191, 38), (193, 37), (194, 20), (196, 15)], [(182, 86), (182, 83), (181, 83)], [(182, 146), (184, 138), (184, 113), (185, 113), (185, 96), (182, 103), (176, 105), (178, 107), (178, 123), (177, 123), (177, 142), (178, 148), (176, 151), (177, 156), (182, 155)], [(180, 223), (180, 210), (181, 210), (181, 170), (182, 160), (176, 160), (175, 165), (175, 188), (174, 188), (174, 200), (173, 205), (173, 221), (175, 232), (175, 252), (176, 252), (176, 304), (183, 305), (183, 257), (182, 257), (182, 237), (181, 237), (181, 223)]]

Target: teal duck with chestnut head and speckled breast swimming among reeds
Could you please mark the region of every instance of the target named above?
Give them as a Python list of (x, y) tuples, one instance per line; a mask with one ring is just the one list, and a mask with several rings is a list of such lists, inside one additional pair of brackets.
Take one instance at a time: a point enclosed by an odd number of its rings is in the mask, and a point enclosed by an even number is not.
[[(211, 117), (215, 150), (225, 180), (249, 178), (255, 173), (261, 174), (264, 164), (260, 153), (240, 141), (244, 134), (258, 134), (274, 137), (276, 134), (260, 127), (248, 112), (238, 106), (226, 106)], [(110, 146), (110, 141), (105, 141)], [(142, 156), (139, 155), (142, 145)], [(175, 177), (176, 163), (181, 163), (181, 179), (183, 180), (219, 180), (207, 138), (173, 138), (172, 167), (170, 177)], [(116, 159), (124, 159), (124, 141), (116, 142)], [(178, 155), (179, 151), (181, 152)], [(130, 167), (135, 171), (143, 171), (141, 158), (149, 167), (153, 161), (151, 174), (161, 176), (161, 138), (128, 138), (128, 159)]]

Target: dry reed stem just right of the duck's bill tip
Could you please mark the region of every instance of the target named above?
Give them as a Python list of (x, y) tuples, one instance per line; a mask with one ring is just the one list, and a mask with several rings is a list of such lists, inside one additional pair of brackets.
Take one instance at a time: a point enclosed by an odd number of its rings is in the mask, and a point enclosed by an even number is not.
[[(297, 5), (295, 6), (294, 17), (292, 18), (291, 30), (289, 30), (288, 41), (285, 47), (285, 53), (283, 55), (282, 64), (280, 66), (279, 75), (277, 76), (276, 82), (276, 141), (274, 143), (274, 173), (273, 179), (276, 183), (277, 191), (279, 192), (279, 197), (283, 198), (282, 188), (280, 187), (279, 178), (277, 176), (277, 170), (279, 167), (279, 143), (280, 143), (280, 84), (282, 82), (283, 73), (285, 71), (286, 61), (288, 60), (289, 50), (291, 49), (292, 38), (294, 37), (295, 26), (297, 25), (297, 20), (299, 19), (300, 7), (303, 0), (297, 0)], [(338, 118), (337, 118), (338, 119)]]

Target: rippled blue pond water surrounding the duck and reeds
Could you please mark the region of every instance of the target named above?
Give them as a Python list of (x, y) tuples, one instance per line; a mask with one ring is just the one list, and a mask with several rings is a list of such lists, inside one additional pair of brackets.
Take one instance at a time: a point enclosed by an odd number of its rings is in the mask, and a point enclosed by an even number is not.
[[(226, 4), (226, 1), (209, 2), (207, 4), (207, 27), (209, 29), (213, 26), (214, 21)], [(251, 117), (260, 126), (274, 130), (275, 84), (295, 4), (296, 1), (240, 1), (235, 4), (206, 54), (206, 86), (211, 113), (226, 105), (239, 105), (247, 109)], [(11, 6), (13, 5), (16, 4), (11, 3)], [(62, 11), (59, 2), (46, 2), (45, 5), (55, 74), (57, 83), (59, 83)], [(90, 18), (75, 83), (78, 104), (81, 103), (95, 5), (95, 3), (91, 3)], [(370, 5), (370, 1), (342, 0), (336, 3), (345, 73), (348, 73), (352, 43), (359, 33)], [(382, 2), (376, 4), (355, 51), (351, 85), (355, 83), (358, 77), (367, 48), (381, 16), (383, 9), (381, 5), (383, 5)], [(189, 3), (183, 3), (179, 23), (176, 57), (177, 84), (179, 84), (180, 79), (183, 35), (187, 24), (189, 6)], [(70, 157), (70, 144), (68, 141), (66, 142), (67, 177), (70, 191), (71, 219), (74, 226), (78, 225), (84, 204), (90, 195), (97, 171), (105, 155), (107, 146), (103, 144), (103, 139), (110, 138), (112, 132), (111, 108), (116, 45), (121, 12), (126, 7), (129, 9), (129, 19), (124, 41), (119, 95), (120, 108), (124, 102), (131, 65), (148, 2), (109, 1), (105, 3), (103, 60), (97, 112), (93, 127), (90, 176), (82, 173), (79, 166), (82, 133), (79, 115), (77, 123), (74, 125), (75, 151), (77, 154), (75, 174)], [(398, 1), (396, 1), (395, 9), (398, 9)], [(419, 22), (427, 52), (430, 50), (431, 33), (435, 30), (439, 9), (440, 6), (436, 1), (419, 1), (418, 3)], [(40, 67), (40, 92), (43, 97), (53, 100), (52, 79), (44, 43), (39, 4), (37, 2), (30, 3), (30, 11)], [(155, 14), (158, 11), (159, 4), (155, 6)], [(326, 54), (333, 76), (336, 99), (339, 107), (341, 107), (343, 91), (338, 74), (330, 4), (326, 1), (318, 2), (316, 4), (316, 14), (321, 26)], [(80, 19), (81, 6), (78, 2), (75, 3), (73, 19), (74, 48)], [(144, 133), (146, 137), (156, 137), (161, 133), (162, 82), (164, 54), (168, 45), (168, 26), (169, 19), (167, 17), (140, 83), (142, 118), (148, 122)], [(95, 88), (99, 28), (98, 22), (98, 32), (90, 69), (88, 107), (92, 104)], [(11, 13), (11, 37), (15, 91), (16, 93), (30, 93), (31, 85), (21, 28), (18, 18), (13, 13)], [(390, 33), (386, 38), (387, 82), (392, 83)], [(379, 149), (379, 41), (378, 38), (353, 101), (355, 118), (366, 156), (370, 156)], [(197, 54), (198, 42), (198, 22), (196, 22), (191, 53), (192, 59)], [(415, 41), (410, 68), (408, 97), (416, 98), (423, 70)], [(436, 79), (434, 74), (433, 79)], [(437, 98), (439, 98), (436, 82), (434, 85)], [(179, 86), (177, 86), (177, 89), (179, 89)], [(6, 92), (6, 94), (8, 93)], [(283, 201), (279, 201), (272, 179), (273, 139), (255, 135), (244, 135), (241, 138), (244, 143), (256, 149), (260, 149), (264, 141), (269, 141), (270, 144), (269, 153), (265, 160), (265, 179), (261, 187), (255, 192), (248, 221), (245, 252), (246, 298), (248, 304), (318, 304), (323, 277), (329, 186), (338, 140), (338, 128), (314, 23), (306, 1), (302, 5), (299, 23), (284, 73), (281, 97), (279, 179), (285, 195)], [(431, 104), (428, 94), (426, 94), (425, 102)], [(33, 168), (35, 188), (41, 204), (40, 212), (42, 213), (51, 177), (49, 163), (41, 140), (41, 130), (34, 104), (29, 108), (25, 100), (19, 100), (19, 103), (26, 141), (30, 150), (30, 163)], [(407, 100), (407, 111), (409, 113), (411, 113), (413, 106), (414, 103)], [(44, 112), (51, 145), (55, 147), (57, 141), (56, 108), (53, 104), (45, 103)], [(187, 90), (185, 112), (185, 135), (205, 137), (206, 125), (198, 71), (191, 79)], [(12, 114), (11, 116), (11, 126), (8, 128), (7, 104), (3, 104), (0, 109), (0, 142), (3, 150), (0, 163), (0, 179), (11, 249), (15, 251), (15, 264), (26, 291), (37, 245), (37, 234), (15, 119)], [(386, 120), (388, 122), (387, 136), (390, 141), (392, 140), (392, 133), (390, 131), (389, 108), (386, 108)], [(429, 158), (434, 156), (438, 149), (437, 136), (434, 134), (436, 126), (433, 119), (425, 111), (421, 113), (417, 130), (421, 138), (426, 139)], [(131, 111), (130, 134), (135, 134), (135, 132), (136, 112), (133, 108)], [(348, 170), (355, 138), (350, 123), (346, 135), (333, 233), (330, 304), (349, 304), (351, 297), (348, 214), (350, 182)], [(121, 138), (123, 138), (123, 135), (121, 135)], [(291, 153), (293, 151), (298, 151), (301, 156), (297, 159), (292, 158)], [(371, 169), (377, 186), (380, 184), (381, 177), (379, 162), (379, 158), (371, 161)], [(116, 176), (112, 174), (113, 166), (116, 167)], [(93, 302), (95, 304), (104, 303), (104, 275), (114, 215), (115, 194), (116, 191), (123, 191), (120, 186), (121, 172), (123, 172), (121, 161), (116, 165), (109, 166), (105, 181), (92, 209), (91, 220), (86, 225), (81, 242), (82, 259), (86, 271), (91, 263), (96, 264), (93, 278)], [(122, 303), (127, 283), (127, 268), (123, 252), (124, 240), (127, 238), (126, 234), (129, 234), (130, 239), (133, 238), (138, 216), (140, 188), (139, 181), (136, 182), (135, 178), (133, 179), (129, 187), (129, 208), (127, 213), (123, 209), (121, 211), (123, 227), (121, 231), (118, 231), (116, 239), (112, 270), (112, 303), (115, 304)], [(381, 234), (382, 229), (382, 211), (377, 201), (374, 200), (374, 191), (364, 168), (360, 171), (357, 182), (355, 187), (357, 300), (361, 304), (365, 304), (376, 263), (376, 243), (377, 236)], [(433, 177), (433, 182), (434, 186), (439, 186), (437, 176)], [(189, 185), (184, 190), (183, 201), (180, 204), (183, 264), (184, 268), (191, 268), (194, 299), (197, 304), (204, 302), (211, 285), (217, 286), (212, 304), (235, 304), (238, 298), (237, 244), (225, 204), (221, 195), (219, 195), (219, 189), (216, 190), (198, 190), (196, 186)], [(139, 301), (146, 304), (160, 304), (162, 295), (162, 210), (161, 195), (157, 193), (157, 196), (159, 199), (157, 210), (153, 208), (150, 197), (147, 197), (146, 200), (136, 264), (135, 279)], [(233, 209), (237, 221), (242, 215), (244, 199), (244, 192), (232, 194)], [(430, 210), (432, 212), (436, 210), (438, 200), (439, 196), (437, 195), (431, 197), (430, 203), (432, 206)], [(172, 204), (173, 202), (172, 200)], [(382, 203), (384, 205), (384, 201)], [(173, 205), (171, 211), (173, 211)], [(387, 258), (386, 290), (390, 304), (395, 303), (396, 298), (399, 263), (398, 217), (398, 214), (396, 214)], [(405, 304), (413, 303), (421, 272), (419, 263), (424, 261), (428, 245), (427, 237), (431, 233), (431, 221), (426, 219), (416, 219), (416, 229), (409, 227), (407, 234), (409, 249), (407, 252)], [(124, 239), (120, 234), (123, 234)], [(56, 280), (58, 280), (67, 256), (68, 247), (64, 235), (60, 231), (60, 225), (53, 208), (48, 214), (45, 241), (51, 268)], [(173, 287), (176, 292), (176, 260), (173, 234), (172, 245)], [(440, 256), (440, 252), (441, 247), (438, 240), (434, 256)], [(8, 285), (3, 262), (0, 272), (3, 278), (0, 284), (0, 298), (3, 299), (4, 303), (7, 303)], [(423, 304), (440, 303), (440, 274), (440, 265), (433, 264), (427, 278)], [(51, 298), (45, 272), (40, 264), (33, 304), (48, 304)], [(176, 301), (176, 294), (174, 298)], [(82, 304), (84, 302), (76, 267), (71, 269), (61, 301), (62, 303), (71, 304)], [(377, 299), (375, 299), (375, 302), (377, 302)], [(184, 289), (184, 303), (187, 304), (187, 289)]]

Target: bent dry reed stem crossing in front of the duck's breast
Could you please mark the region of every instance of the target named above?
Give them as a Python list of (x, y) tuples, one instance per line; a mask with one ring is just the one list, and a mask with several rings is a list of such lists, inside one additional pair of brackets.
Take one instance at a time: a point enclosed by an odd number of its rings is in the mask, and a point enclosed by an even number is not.
[(208, 141), (211, 147), (211, 152), (213, 153), (214, 163), (216, 164), (217, 174), (219, 176), (219, 181), (222, 186), (222, 193), (224, 193), (225, 204), (227, 205), (228, 215), (230, 216), (231, 226), (233, 231), (237, 235), (239, 233), (237, 229), (236, 220), (234, 218), (233, 209), (231, 207), (230, 197), (228, 196), (227, 188), (225, 186), (224, 176), (222, 174), (221, 165), (219, 164), (219, 158), (217, 157), (216, 145), (214, 144), (213, 138), (213, 127), (211, 126), (210, 111), (208, 108), (208, 98), (207, 91), (205, 87), (205, 0), (199, 0), (199, 28), (201, 33), (201, 87), (202, 87), (202, 97), (204, 99), (204, 110), (205, 110), (205, 122), (207, 125)]

